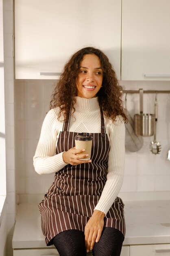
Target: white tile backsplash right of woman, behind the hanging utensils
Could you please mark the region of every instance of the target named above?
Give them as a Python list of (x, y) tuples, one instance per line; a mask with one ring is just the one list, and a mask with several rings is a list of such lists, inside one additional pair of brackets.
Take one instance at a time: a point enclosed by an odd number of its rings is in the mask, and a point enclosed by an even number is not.
[[(170, 90), (169, 81), (120, 81), (124, 90)], [(155, 94), (144, 94), (144, 113), (153, 113)], [(170, 161), (166, 159), (170, 148), (170, 94), (157, 94), (158, 122), (157, 140), (161, 152), (154, 155), (149, 150), (152, 137), (143, 137), (142, 148), (126, 152), (124, 183), (121, 192), (170, 191)], [(139, 113), (139, 94), (127, 94), (127, 110), (131, 116)]]

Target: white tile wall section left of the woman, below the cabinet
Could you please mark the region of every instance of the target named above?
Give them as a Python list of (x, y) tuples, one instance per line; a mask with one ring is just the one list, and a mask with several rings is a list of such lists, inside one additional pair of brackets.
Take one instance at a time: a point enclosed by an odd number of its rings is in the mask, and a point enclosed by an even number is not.
[(49, 111), (54, 81), (15, 81), (15, 159), (17, 194), (44, 194), (54, 175), (38, 175), (33, 156), (41, 125)]

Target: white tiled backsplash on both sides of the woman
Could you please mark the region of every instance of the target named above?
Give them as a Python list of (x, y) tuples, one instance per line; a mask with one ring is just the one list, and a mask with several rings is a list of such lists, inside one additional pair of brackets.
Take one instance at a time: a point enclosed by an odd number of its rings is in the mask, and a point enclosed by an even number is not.
[[(42, 121), (49, 110), (53, 80), (15, 81), (16, 120), (16, 172), (17, 194), (43, 195), (52, 175), (38, 175), (33, 168), (33, 155), (40, 135)], [(120, 81), (124, 90), (170, 90), (170, 82)], [(144, 94), (144, 112), (153, 112), (155, 94)], [(149, 150), (153, 137), (144, 137), (143, 147), (135, 152), (126, 152), (124, 183), (121, 192), (170, 191), (170, 161), (166, 159), (170, 147), (170, 94), (157, 94), (158, 123), (157, 139), (162, 150), (154, 155)], [(139, 113), (139, 94), (127, 95), (127, 109), (133, 116)]]

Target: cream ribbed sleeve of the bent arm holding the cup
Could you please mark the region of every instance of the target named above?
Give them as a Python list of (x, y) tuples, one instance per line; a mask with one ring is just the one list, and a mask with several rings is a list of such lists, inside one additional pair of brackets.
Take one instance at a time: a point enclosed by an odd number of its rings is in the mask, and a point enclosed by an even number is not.
[(39, 174), (56, 173), (66, 165), (62, 157), (63, 152), (55, 155), (57, 135), (61, 127), (54, 110), (50, 110), (44, 119), (33, 157), (35, 171)]

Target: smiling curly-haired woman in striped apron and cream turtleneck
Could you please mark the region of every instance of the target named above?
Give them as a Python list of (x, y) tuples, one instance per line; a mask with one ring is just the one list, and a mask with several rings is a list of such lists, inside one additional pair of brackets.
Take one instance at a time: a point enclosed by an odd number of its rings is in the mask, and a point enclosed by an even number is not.
[[(35, 171), (55, 173), (39, 204), (47, 245), (60, 256), (119, 256), (124, 204), (117, 197), (124, 173), (124, 121), (116, 74), (107, 56), (86, 47), (65, 65), (34, 156)], [(74, 136), (90, 132), (92, 156)], [(83, 155), (77, 155), (77, 154)]]

